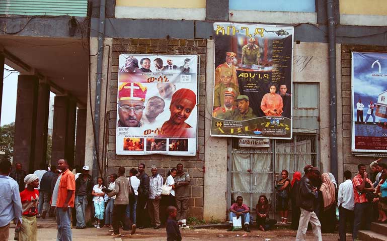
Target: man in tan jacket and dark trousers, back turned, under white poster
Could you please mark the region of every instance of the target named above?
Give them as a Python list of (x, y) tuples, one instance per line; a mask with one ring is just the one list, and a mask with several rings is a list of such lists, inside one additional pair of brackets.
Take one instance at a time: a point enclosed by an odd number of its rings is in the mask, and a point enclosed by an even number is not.
[[(132, 194), (132, 190), (130, 188), (130, 182), (125, 177), (125, 168), (118, 168), (118, 178), (116, 179), (116, 183), (114, 185), (114, 190), (108, 194), (109, 197), (116, 196), (113, 207), (112, 214), (112, 226), (113, 231), (112, 236), (121, 236), (119, 223), (127, 225), (129, 223), (128, 218), (125, 215), (126, 206), (129, 204), (129, 195)], [(131, 234), (134, 234), (136, 231), (136, 226), (132, 225)]]

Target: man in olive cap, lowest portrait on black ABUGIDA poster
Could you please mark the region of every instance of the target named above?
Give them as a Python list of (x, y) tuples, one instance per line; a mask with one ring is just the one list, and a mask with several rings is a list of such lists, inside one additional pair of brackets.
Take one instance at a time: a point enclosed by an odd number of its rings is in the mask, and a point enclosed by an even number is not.
[(257, 115), (253, 113), (253, 109), (249, 107), (249, 96), (239, 95), (236, 101), (238, 108), (226, 112), (224, 114), (224, 119), (230, 121), (247, 121), (248, 119), (257, 118)]

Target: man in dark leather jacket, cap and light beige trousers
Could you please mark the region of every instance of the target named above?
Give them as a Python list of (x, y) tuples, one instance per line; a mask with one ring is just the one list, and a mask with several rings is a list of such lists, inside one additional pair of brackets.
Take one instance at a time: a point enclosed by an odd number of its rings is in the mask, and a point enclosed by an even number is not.
[(306, 229), (308, 222), (311, 222), (313, 233), (316, 235), (316, 240), (322, 241), (321, 224), (319, 218), (313, 209), (313, 203), (316, 198), (317, 188), (313, 186), (312, 180), (318, 177), (318, 169), (312, 165), (304, 167), (305, 175), (299, 182), (297, 206), (300, 207), (301, 216), (297, 230), (296, 241), (306, 240)]

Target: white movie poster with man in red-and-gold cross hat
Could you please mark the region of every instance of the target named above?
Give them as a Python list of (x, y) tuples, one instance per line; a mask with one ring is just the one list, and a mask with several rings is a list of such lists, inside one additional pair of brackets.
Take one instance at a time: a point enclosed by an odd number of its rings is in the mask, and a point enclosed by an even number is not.
[(116, 153), (196, 155), (196, 55), (121, 54)]

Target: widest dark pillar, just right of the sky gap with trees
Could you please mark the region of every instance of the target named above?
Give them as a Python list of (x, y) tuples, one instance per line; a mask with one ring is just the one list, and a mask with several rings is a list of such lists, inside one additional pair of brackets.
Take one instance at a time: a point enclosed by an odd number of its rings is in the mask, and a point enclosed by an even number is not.
[(13, 161), (22, 163), (27, 172), (34, 171), (38, 85), (37, 76), (18, 77)]

